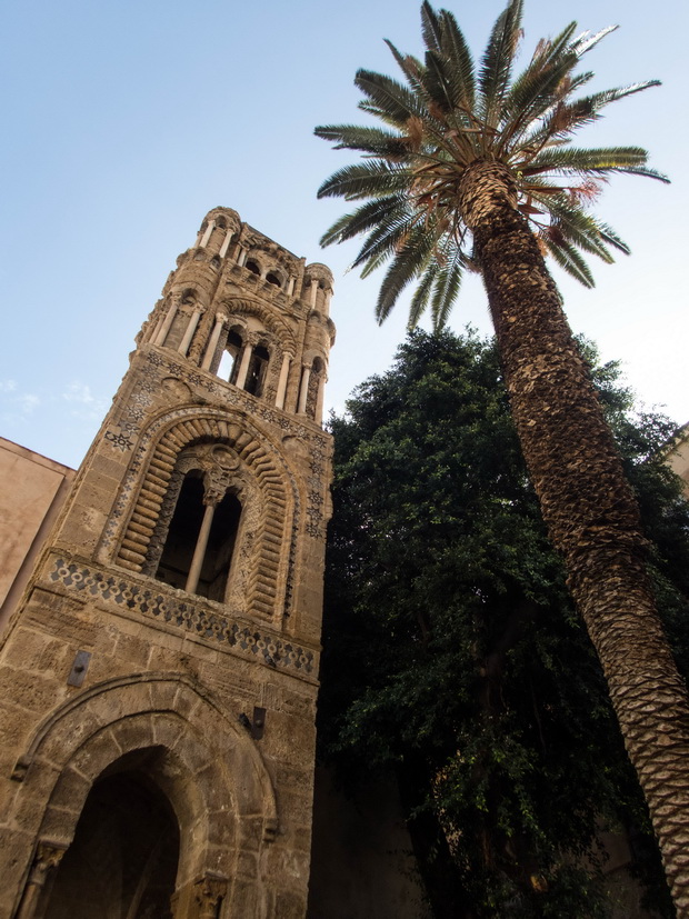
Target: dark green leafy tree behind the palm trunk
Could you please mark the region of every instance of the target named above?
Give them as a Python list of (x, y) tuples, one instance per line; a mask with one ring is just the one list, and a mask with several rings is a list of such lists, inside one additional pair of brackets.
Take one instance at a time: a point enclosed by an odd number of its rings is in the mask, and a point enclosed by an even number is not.
[[(672, 426), (596, 371), (689, 662), (689, 512), (658, 459)], [(631, 833), (673, 916), (648, 813), (548, 540), (501, 384), (475, 337), (417, 332), (333, 418), (319, 736), (356, 783), (395, 772), (445, 917), (607, 915), (597, 832)]]

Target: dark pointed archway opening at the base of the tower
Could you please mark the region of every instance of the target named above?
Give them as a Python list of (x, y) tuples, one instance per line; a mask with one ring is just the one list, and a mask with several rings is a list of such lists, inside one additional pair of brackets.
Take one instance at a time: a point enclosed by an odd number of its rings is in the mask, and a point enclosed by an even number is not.
[(179, 848), (174, 812), (143, 771), (103, 775), (86, 800), (44, 919), (171, 919)]

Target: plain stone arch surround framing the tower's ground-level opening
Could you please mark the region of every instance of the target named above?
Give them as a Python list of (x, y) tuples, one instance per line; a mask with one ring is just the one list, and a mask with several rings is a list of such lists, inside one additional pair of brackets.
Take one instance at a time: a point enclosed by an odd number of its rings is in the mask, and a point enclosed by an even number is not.
[(148, 775), (180, 826), (178, 892), (208, 880), (231, 903), (231, 878), (261, 881), (238, 863), (247, 839), (260, 850), (278, 829), (274, 789), (256, 743), (190, 677), (136, 673), (69, 699), (41, 722), (19, 758), (14, 807), (37, 818), (33, 861), (13, 917), (23, 916), (39, 892), (32, 889), (37, 872), (54, 870), (69, 848), (93, 783), (127, 768)]

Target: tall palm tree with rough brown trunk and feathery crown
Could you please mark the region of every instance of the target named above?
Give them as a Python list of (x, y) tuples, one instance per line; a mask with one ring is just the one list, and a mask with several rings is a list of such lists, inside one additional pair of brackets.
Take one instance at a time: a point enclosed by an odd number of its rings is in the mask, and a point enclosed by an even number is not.
[(365, 203), (322, 239), (365, 233), (355, 266), (390, 260), (382, 321), (417, 284), (409, 322), (430, 308), (440, 327), (467, 269), (480, 271), (529, 472), (568, 583), (600, 657), (629, 757), (646, 795), (678, 909), (689, 917), (689, 701), (646, 573), (636, 500), (572, 339), (543, 257), (587, 286), (585, 254), (627, 246), (588, 211), (615, 172), (667, 181), (637, 147), (581, 149), (578, 128), (657, 81), (577, 96), (575, 72), (611, 29), (542, 40), (512, 77), (522, 0), (508, 0), (475, 68), (453, 16), (423, 3), (425, 59), (388, 42), (406, 82), (360, 70), (360, 108), (382, 127), (316, 130), (363, 159), (319, 197)]

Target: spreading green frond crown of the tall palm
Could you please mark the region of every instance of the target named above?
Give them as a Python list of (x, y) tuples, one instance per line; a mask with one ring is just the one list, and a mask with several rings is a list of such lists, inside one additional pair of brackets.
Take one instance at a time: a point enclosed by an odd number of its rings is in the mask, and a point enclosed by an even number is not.
[(579, 59), (617, 27), (577, 36), (571, 22), (541, 40), (526, 69), (512, 79), (521, 37), (522, 0), (509, 0), (496, 21), (478, 69), (452, 13), (421, 8), (425, 60), (401, 54), (387, 42), (406, 84), (359, 70), (359, 107), (386, 127), (324, 126), (316, 133), (337, 148), (358, 150), (363, 160), (337, 171), (319, 198), (366, 201), (337, 220), (321, 244), (359, 233), (366, 241), (355, 259), (366, 277), (391, 259), (376, 314), (388, 316), (403, 288), (418, 280), (409, 314), (415, 326), (430, 304), (433, 324), (443, 324), (466, 269), (480, 269), (460, 206), (460, 183), (477, 161), (502, 163), (517, 189), (517, 206), (545, 254), (587, 287), (593, 278), (582, 253), (612, 261), (629, 252), (615, 231), (588, 211), (612, 172), (667, 181), (646, 166), (639, 147), (582, 149), (571, 146), (578, 128), (626, 96), (657, 86), (633, 86), (577, 96), (592, 72), (575, 73)]

